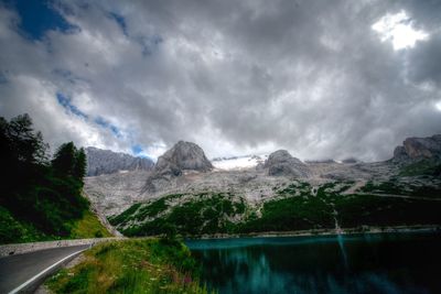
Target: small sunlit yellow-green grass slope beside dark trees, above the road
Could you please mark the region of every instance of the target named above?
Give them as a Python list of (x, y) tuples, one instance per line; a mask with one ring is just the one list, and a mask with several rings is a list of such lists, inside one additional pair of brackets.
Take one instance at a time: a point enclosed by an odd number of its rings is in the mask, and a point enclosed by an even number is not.
[(72, 239), (104, 238), (112, 235), (103, 226), (97, 216), (87, 210), (82, 219), (77, 220), (71, 230)]

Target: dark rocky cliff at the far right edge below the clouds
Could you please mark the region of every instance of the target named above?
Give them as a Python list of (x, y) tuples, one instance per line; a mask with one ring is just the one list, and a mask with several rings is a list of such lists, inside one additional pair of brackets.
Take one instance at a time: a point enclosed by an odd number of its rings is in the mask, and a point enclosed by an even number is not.
[(424, 159), (441, 159), (441, 134), (428, 138), (408, 138), (402, 142), (402, 146), (397, 146), (394, 151), (395, 162)]

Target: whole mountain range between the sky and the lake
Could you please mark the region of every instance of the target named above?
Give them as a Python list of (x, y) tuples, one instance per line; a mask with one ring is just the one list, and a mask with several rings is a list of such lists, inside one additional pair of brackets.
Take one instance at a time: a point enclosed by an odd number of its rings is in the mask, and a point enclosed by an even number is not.
[[(85, 190), (114, 226), (133, 236), (161, 233), (164, 224), (186, 235), (324, 229), (337, 220), (402, 225), (416, 207), (427, 214), (416, 209), (410, 222), (438, 224), (441, 202), (420, 202), (441, 199), (440, 138), (408, 138), (384, 162), (302, 162), (279, 150), (233, 170), (216, 163), (237, 157), (211, 162), (198, 145), (180, 141), (154, 166), (90, 176)], [(373, 217), (363, 220), (356, 211)]]

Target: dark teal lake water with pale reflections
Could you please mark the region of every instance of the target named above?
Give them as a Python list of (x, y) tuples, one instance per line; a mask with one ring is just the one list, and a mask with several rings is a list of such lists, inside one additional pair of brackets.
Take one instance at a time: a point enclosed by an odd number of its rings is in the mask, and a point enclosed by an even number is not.
[(189, 240), (223, 293), (441, 293), (440, 233)]

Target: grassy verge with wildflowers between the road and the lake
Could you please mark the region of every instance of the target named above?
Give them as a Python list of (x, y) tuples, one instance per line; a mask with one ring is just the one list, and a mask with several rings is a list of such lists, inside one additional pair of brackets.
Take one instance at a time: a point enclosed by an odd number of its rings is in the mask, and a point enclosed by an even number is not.
[(138, 239), (97, 244), (51, 277), (54, 293), (207, 293), (200, 268), (180, 241)]

